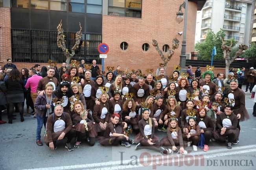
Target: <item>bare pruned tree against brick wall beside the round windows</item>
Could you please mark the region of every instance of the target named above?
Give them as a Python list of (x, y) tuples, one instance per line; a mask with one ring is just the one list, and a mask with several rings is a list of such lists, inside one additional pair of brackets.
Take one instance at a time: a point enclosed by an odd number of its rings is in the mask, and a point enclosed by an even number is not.
[(161, 59), (163, 60), (164, 68), (166, 69), (166, 66), (167, 66), (169, 60), (171, 59), (171, 57), (173, 56), (175, 49), (177, 49), (179, 47), (179, 40), (177, 38), (173, 38), (173, 44), (172, 44), (171, 49), (169, 49), (169, 51), (167, 52), (167, 57), (164, 57), (162, 50), (159, 49), (157, 40), (153, 39), (152, 42), (153, 42), (153, 46), (155, 46), (155, 49), (157, 50), (158, 54), (160, 55)]

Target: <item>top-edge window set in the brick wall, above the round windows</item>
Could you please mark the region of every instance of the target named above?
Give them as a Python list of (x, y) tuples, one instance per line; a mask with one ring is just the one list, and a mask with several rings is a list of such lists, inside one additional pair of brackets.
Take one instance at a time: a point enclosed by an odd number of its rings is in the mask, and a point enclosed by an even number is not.
[(141, 18), (142, 0), (109, 0), (108, 15)]

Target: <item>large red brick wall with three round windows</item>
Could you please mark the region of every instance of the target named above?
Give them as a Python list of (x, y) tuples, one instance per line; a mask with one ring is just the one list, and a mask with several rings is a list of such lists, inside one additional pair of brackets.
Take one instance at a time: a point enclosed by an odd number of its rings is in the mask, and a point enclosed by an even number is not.
[[(183, 0), (161, 0), (161, 2), (143, 0), (142, 18), (139, 19), (103, 15), (102, 42), (109, 45), (109, 53), (107, 53), (108, 57), (105, 59), (104, 65), (115, 67), (120, 65), (122, 69), (139, 68), (142, 72), (147, 68), (154, 68), (156, 71), (162, 60), (152, 45), (152, 39), (158, 41), (158, 46), (162, 50), (164, 44), (171, 47), (173, 38), (177, 38), (180, 41), (180, 46), (167, 66), (167, 73), (171, 73), (173, 66), (179, 64), (180, 60), (182, 36), (177, 33), (183, 31), (184, 22), (178, 24), (175, 18), (182, 2)], [(194, 13), (196, 13), (196, 8)], [(192, 21), (188, 20), (188, 22)], [(192, 26), (195, 27), (195, 22)], [(187, 38), (191, 39), (190, 37), (195, 37), (195, 32), (189, 32)], [(123, 41), (129, 44), (125, 51), (120, 49), (120, 44)], [(150, 46), (146, 52), (142, 50), (144, 43), (148, 43)]]

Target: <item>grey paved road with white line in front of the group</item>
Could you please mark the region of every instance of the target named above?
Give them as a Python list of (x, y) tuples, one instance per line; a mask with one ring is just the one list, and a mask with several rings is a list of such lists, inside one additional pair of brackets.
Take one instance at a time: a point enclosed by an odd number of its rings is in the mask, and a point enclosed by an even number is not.
[[(246, 93), (246, 108), (252, 114), (254, 102), (250, 93)], [(18, 113), (17, 113), (18, 114)], [(19, 116), (17, 115), (17, 118)], [(7, 120), (6, 114), (3, 119)], [(25, 116), (25, 121), (18, 119), (13, 124), (0, 125), (0, 170), (118, 170), (118, 169), (232, 169), (255, 170), (256, 168), (256, 117), (241, 122), (239, 144), (227, 150), (225, 144), (211, 142), (209, 152), (199, 149), (193, 152), (187, 148), (186, 157), (175, 154), (163, 157), (152, 150), (134, 151), (135, 146), (103, 147), (97, 142), (91, 147), (82, 143), (80, 148), (68, 152), (65, 141), (58, 144), (57, 150), (50, 150), (45, 144), (37, 146), (35, 141), (36, 120)], [(43, 128), (44, 130), (44, 128)], [(164, 132), (156, 132), (163, 137)], [(42, 132), (43, 136), (43, 132)], [(133, 137), (134, 135), (132, 135)], [(198, 156), (199, 155), (199, 156)], [(140, 158), (144, 158), (141, 159)], [(229, 161), (228, 161), (229, 160)], [(225, 166), (225, 167), (222, 167)]]

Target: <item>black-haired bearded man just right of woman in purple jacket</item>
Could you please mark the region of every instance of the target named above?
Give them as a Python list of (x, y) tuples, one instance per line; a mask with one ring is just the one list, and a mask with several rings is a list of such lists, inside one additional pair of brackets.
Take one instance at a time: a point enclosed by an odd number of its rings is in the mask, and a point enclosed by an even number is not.
[(53, 91), (53, 93), (56, 95), (57, 98), (63, 99), (62, 106), (64, 109), (64, 112), (70, 113), (69, 111), (69, 98), (71, 97), (71, 91), (70, 91), (70, 85), (69, 82), (63, 81), (58, 86), (56, 91)]

